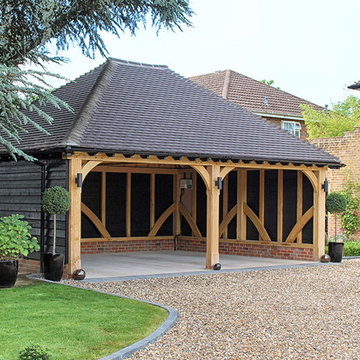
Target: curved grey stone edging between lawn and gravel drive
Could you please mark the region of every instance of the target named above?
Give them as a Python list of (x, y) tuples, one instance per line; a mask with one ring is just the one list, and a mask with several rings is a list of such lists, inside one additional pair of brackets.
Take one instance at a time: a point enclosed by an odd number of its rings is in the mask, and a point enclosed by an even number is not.
[(135, 298), (131, 298), (128, 296), (122, 296), (122, 295), (118, 295), (118, 294), (114, 294), (114, 293), (108, 293), (105, 291), (99, 291), (99, 290), (93, 290), (93, 289), (85, 289), (81, 286), (76, 286), (76, 285), (70, 285), (70, 284), (64, 284), (61, 282), (57, 282), (57, 281), (51, 281), (51, 280), (46, 280), (44, 278), (41, 277), (41, 275), (27, 275), (26, 277), (28, 277), (29, 279), (33, 279), (33, 280), (39, 280), (39, 281), (44, 281), (44, 282), (48, 282), (51, 284), (58, 284), (58, 285), (64, 285), (64, 286), (69, 286), (69, 287), (73, 287), (73, 288), (77, 288), (77, 289), (82, 289), (82, 290), (87, 290), (87, 291), (93, 291), (93, 292), (97, 292), (99, 294), (105, 294), (105, 295), (112, 295), (112, 296), (116, 296), (122, 299), (128, 299), (128, 300), (135, 300), (135, 301), (140, 301), (149, 305), (154, 305), (160, 308), (163, 308), (165, 310), (168, 311), (169, 315), (167, 317), (167, 319), (162, 323), (162, 325), (160, 325), (153, 333), (151, 333), (150, 335), (148, 335), (147, 337), (145, 337), (142, 340), (137, 341), (134, 344), (131, 344), (119, 351), (116, 351), (110, 355), (107, 355), (105, 357), (100, 358), (99, 360), (121, 360), (121, 359), (126, 359), (129, 356), (133, 355), (135, 352), (145, 348), (147, 345), (154, 343), (156, 340), (160, 339), (161, 337), (163, 337), (176, 323), (177, 319), (178, 319), (178, 312), (176, 310), (174, 310), (173, 308), (167, 306), (167, 305), (163, 305), (163, 304), (158, 304), (158, 303), (154, 303), (151, 301), (147, 301), (147, 300), (139, 300), (139, 299), (135, 299)]

